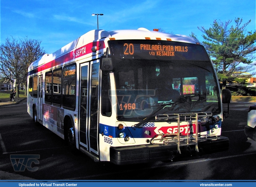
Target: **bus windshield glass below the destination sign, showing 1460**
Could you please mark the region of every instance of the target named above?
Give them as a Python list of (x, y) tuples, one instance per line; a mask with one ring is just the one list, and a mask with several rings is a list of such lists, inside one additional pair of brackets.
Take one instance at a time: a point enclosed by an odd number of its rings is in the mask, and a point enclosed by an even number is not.
[[(220, 93), (209, 58), (202, 61), (124, 57), (112, 61), (118, 120), (142, 120), (156, 110), (156, 115), (220, 114)], [(164, 107), (158, 110), (161, 106)]]

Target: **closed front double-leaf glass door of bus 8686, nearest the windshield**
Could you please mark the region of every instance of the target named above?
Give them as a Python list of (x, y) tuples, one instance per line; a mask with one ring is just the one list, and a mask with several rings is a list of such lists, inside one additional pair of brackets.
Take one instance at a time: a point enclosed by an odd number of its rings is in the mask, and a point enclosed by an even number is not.
[(80, 64), (79, 139), (89, 152), (98, 153), (100, 63)]

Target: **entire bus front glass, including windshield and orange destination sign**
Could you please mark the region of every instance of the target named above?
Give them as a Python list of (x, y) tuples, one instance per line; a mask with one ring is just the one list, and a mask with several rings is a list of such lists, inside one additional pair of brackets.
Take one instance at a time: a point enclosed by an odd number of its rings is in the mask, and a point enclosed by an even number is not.
[[(117, 119), (138, 121), (154, 114), (220, 114), (217, 78), (202, 45), (152, 40), (109, 41)], [(153, 120), (153, 119), (152, 119)]]

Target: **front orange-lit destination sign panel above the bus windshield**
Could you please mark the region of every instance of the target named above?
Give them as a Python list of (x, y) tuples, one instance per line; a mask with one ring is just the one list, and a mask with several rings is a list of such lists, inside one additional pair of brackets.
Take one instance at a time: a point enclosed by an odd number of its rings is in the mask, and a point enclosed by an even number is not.
[(177, 41), (115, 40), (108, 41), (116, 58), (209, 60), (202, 45)]

